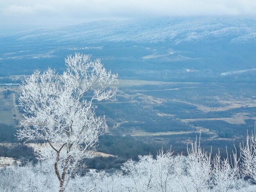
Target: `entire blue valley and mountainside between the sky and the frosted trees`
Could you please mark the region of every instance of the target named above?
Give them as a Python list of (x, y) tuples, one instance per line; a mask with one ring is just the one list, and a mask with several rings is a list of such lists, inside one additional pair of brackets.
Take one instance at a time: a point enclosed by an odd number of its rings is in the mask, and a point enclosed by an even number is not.
[(17, 142), (24, 75), (48, 67), (63, 71), (66, 56), (80, 52), (119, 75), (117, 101), (93, 103), (109, 127), (99, 152), (137, 159), (172, 145), (186, 154), (201, 133), (203, 147), (220, 148), (225, 156), (226, 145), (233, 150), (254, 130), (255, 26), (253, 17), (176, 17), (2, 35), (0, 142)]

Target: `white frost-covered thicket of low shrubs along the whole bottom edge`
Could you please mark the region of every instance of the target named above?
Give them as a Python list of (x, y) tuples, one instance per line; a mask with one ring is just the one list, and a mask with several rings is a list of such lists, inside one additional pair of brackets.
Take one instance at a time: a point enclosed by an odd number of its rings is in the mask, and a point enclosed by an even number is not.
[[(256, 185), (243, 180), (239, 174), (236, 153), (232, 158), (210, 154), (193, 144), (191, 157), (172, 155), (162, 150), (152, 155), (129, 160), (123, 172), (87, 172), (74, 175), (65, 190), (68, 192), (255, 192)], [(196, 147), (196, 148), (195, 148)], [(208, 157), (206, 157), (208, 156)], [(196, 157), (196, 158), (195, 158)], [(232, 162), (231, 162), (232, 159)], [(211, 166), (208, 166), (208, 165)], [(193, 167), (191, 167), (193, 165)], [(202, 167), (194, 165), (202, 165)], [(199, 175), (199, 174), (202, 175)], [(198, 177), (198, 181), (195, 181)], [(58, 191), (59, 181), (54, 172), (45, 170), (45, 164), (0, 168), (0, 192)]]

